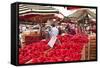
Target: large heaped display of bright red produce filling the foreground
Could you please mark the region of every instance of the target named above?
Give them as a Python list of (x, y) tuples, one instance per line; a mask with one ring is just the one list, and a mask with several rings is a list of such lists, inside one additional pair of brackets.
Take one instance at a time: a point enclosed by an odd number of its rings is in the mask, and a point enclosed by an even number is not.
[(58, 39), (61, 45), (55, 43), (53, 48), (47, 45), (49, 40), (34, 42), (19, 48), (19, 64), (26, 64), (30, 60), (29, 64), (81, 60), (81, 51), (89, 41), (88, 36), (59, 35)]

